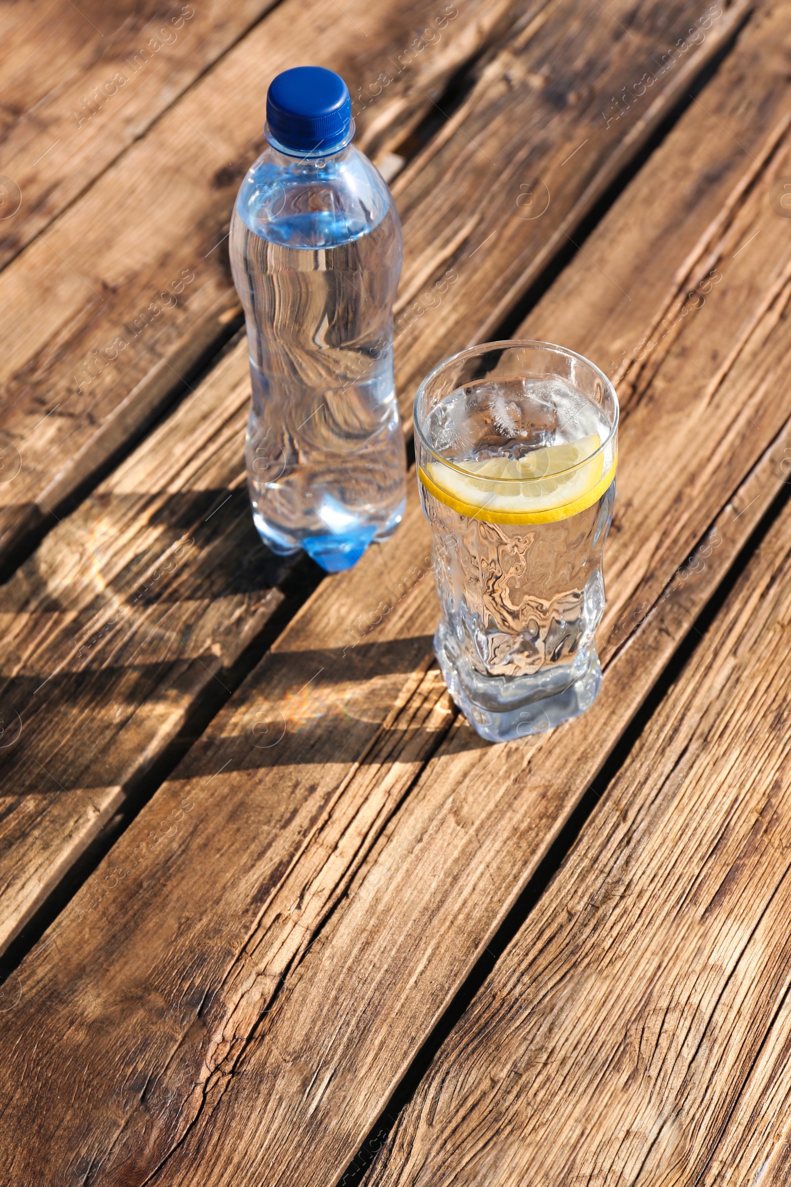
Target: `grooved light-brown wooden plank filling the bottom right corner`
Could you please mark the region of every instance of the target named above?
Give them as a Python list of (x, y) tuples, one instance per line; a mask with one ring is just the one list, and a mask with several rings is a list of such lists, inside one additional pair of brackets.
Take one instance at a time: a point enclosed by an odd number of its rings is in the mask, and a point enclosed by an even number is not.
[(790, 624), (786, 506), (366, 1185), (787, 1181)]

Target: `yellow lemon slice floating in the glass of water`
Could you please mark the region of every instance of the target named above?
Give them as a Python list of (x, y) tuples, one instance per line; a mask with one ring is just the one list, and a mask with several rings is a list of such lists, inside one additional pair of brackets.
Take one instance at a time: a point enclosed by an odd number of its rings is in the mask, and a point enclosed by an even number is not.
[(417, 472), (426, 490), (460, 515), (490, 523), (551, 523), (586, 510), (614, 478), (618, 456), (605, 474), (600, 445), (592, 433), (518, 459), (459, 462), (464, 469), (427, 462)]

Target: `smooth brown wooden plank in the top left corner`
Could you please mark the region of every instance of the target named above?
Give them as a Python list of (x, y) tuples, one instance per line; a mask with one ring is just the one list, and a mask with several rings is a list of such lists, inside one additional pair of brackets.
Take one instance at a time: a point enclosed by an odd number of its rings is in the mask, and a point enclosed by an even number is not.
[(274, 2), (4, 4), (2, 169), (19, 192), (7, 188), (0, 209), (0, 267), (145, 135)]

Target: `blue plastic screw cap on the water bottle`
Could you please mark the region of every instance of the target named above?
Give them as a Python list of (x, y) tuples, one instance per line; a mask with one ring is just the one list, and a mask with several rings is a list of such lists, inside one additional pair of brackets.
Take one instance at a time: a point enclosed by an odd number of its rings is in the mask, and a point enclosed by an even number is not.
[(267, 140), (295, 157), (339, 152), (355, 134), (343, 78), (324, 66), (283, 70), (267, 91)]

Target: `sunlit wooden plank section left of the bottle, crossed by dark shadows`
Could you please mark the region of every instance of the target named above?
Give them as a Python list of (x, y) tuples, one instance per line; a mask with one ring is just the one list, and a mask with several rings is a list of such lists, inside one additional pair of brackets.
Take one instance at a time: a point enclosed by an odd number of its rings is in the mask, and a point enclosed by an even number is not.
[(0, 589), (0, 948), (282, 601), (250, 521), (244, 344)]

